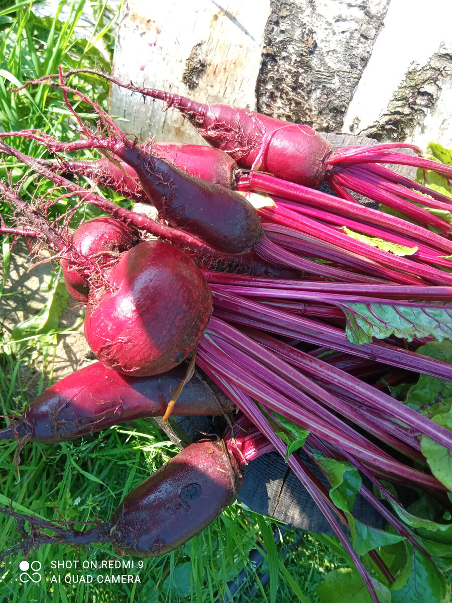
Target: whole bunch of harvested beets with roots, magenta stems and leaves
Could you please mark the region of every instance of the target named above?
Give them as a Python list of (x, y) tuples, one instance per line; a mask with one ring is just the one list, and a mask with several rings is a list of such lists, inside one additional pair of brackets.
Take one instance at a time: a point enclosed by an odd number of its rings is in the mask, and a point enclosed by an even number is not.
[[(452, 489), (452, 478), (443, 463), (452, 451), (447, 412), (433, 400), (418, 408), (406, 405), (386, 393), (385, 382), (375, 382), (384, 376), (400, 385), (408, 376), (414, 383), (419, 374), (452, 382), (452, 365), (432, 341), (452, 339), (452, 276), (444, 270), (452, 253), (450, 224), (418, 207), (419, 198), (424, 199), (423, 185), (407, 179), (395, 182), (394, 172), (377, 165), (383, 159), (392, 162), (391, 145), (331, 153), (310, 128), (129, 86), (186, 112), (207, 139), (237, 160), (240, 172), (221, 150), (164, 148), (152, 141), (137, 145), (101, 107), (66, 86), (62, 74), (58, 77), (60, 83), (54, 85), (63, 91), (67, 109), (78, 120), (80, 140), (65, 142), (32, 130), (1, 134), (39, 143), (57, 156), (56, 162), (34, 160), (3, 143), (0, 151), (24, 162), (65, 194), (75, 195), (79, 203), (95, 204), (131, 232), (138, 229), (143, 240), (130, 239), (124, 250), (106, 251), (107, 242), (99, 239), (98, 250), (83, 251), (75, 244), (75, 235), (69, 240), (58, 224), (49, 223), (39, 204), (31, 209), (11, 186), (1, 185), (0, 191), (20, 216), (15, 234), (46, 239), (53, 253), (84, 279), (86, 337), (107, 367), (90, 369), (95, 377), (93, 391), (99, 373), (101, 381), (113, 375), (108, 379), (124, 394), (121, 404), (107, 393), (100, 395), (103, 412), (86, 391), (79, 393), (74, 376), (67, 383), (69, 406), (63, 384), (61, 394), (60, 385), (54, 386), (24, 419), (13, 420), (10, 430), (3, 432), (5, 437), (76, 437), (97, 429), (94, 416), (99, 417), (99, 426), (113, 425), (119, 407), (128, 417), (151, 414), (154, 411), (147, 407), (141, 390), (136, 399), (133, 384), (147, 388), (144, 384), (152, 376), (166, 384), (165, 394), (171, 397), (165, 402), (159, 399), (160, 412), (168, 403), (167, 417), (171, 409), (183, 408), (184, 396), (191, 397), (194, 377), (189, 378), (195, 364), (243, 411), (248, 423), (240, 418), (242, 432), (234, 431), (234, 438), (231, 432), (224, 435), (228, 450), (212, 441), (188, 447), (129, 494), (111, 522), (97, 523), (86, 532), (31, 522), (33, 534), (16, 549), (27, 551), (31, 538), (49, 542), (48, 536), (36, 532), (40, 525), (55, 532), (52, 541), (57, 543), (108, 541), (121, 554), (142, 556), (170, 551), (198, 534), (234, 499), (246, 460), (273, 447), (330, 522), (372, 600), (381, 601), (381, 592), (398, 579), (397, 569), (394, 573), (386, 566), (380, 546), (371, 543), (366, 549), (359, 540), (362, 531), (353, 514), (357, 494), (420, 555), (430, 554), (428, 544), (387, 482), (428, 494), (444, 513), (450, 513), (447, 491)], [(70, 93), (95, 113), (96, 133), (81, 122), (69, 103)], [(287, 147), (297, 161), (287, 159)], [(88, 164), (63, 156), (87, 149), (100, 150), (107, 159)], [(305, 163), (298, 161), (303, 154)], [(200, 157), (206, 159), (206, 169), (201, 169)], [(399, 154), (397, 161), (450, 175), (448, 166), (423, 158)], [(212, 169), (222, 162), (224, 169)], [(70, 182), (61, 175), (67, 172), (93, 177), (117, 191), (127, 190), (131, 198), (147, 198), (162, 222), (133, 214)], [(293, 182), (283, 180), (289, 177)], [(342, 198), (305, 186), (322, 179)], [(415, 224), (360, 206), (345, 191), (345, 186), (353, 189), (352, 183), (363, 194), (403, 211)], [(257, 209), (233, 188), (253, 200)], [(266, 191), (271, 197), (252, 191)], [(425, 205), (444, 209), (446, 203), (450, 206), (451, 201), (435, 193)], [(14, 233), (14, 229), (4, 232)], [(159, 240), (149, 241), (147, 233)], [(234, 254), (242, 260), (234, 259)], [(263, 276), (228, 274), (240, 271), (240, 261), (247, 264), (256, 256), (269, 267), (264, 267)], [(207, 268), (204, 274), (193, 259)], [(292, 279), (293, 270), (306, 271), (315, 280)], [(175, 368), (190, 355), (189, 370)], [(174, 391), (168, 385), (173, 377), (166, 371), (178, 375)], [(72, 388), (77, 391), (72, 393)], [(27, 417), (33, 425), (27, 425)], [(65, 420), (69, 422), (66, 433)], [(300, 449), (324, 481), (303, 463)], [(363, 484), (362, 476), (374, 491)], [(162, 502), (169, 484), (174, 488)], [(338, 496), (336, 488), (341, 484)], [(212, 510), (206, 500), (212, 500)], [(152, 523), (153, 517), (159, 519), (158, 525)], [(352, 534), (351, 541), (344, 526)]]

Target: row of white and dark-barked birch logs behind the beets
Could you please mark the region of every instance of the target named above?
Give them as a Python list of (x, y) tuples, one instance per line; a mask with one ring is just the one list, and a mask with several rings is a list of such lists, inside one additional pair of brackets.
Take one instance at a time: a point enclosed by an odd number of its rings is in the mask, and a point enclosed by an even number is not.
[[(450, 0), (125, 0), (113, 68), (320, 131), (450, 148), (451, 22)], [(112, 89), (140, 139), (201, 142), (162, 109)]]

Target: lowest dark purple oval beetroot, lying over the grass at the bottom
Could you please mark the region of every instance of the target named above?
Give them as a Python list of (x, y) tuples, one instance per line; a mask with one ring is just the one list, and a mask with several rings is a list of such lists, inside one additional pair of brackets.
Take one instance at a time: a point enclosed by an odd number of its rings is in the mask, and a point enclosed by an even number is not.
[(111, 520), (115, 548), (137, 557), (173, 551), (234, 502), (244, 473), (221, 441), (190, 444), (125, 497)]

